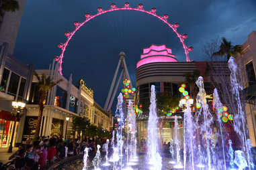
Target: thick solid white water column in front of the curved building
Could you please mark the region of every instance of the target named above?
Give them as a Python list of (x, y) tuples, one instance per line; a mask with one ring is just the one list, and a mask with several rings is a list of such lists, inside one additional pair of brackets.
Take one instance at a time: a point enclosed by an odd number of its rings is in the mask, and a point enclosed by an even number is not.
[(158, 151), (157, 141), (157, 103), (155, 95), (155, 86), (151, 86), (151, 105), (149, 106), (148, 116), (148, 137), (147, 137), (147, 160), (151, 165), (150, 169), (162, 168), (162, 157)]

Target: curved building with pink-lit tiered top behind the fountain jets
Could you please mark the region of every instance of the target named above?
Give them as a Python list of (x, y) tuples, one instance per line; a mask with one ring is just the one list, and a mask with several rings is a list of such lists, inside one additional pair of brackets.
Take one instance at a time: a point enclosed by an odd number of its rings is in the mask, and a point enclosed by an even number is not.
[[(145, 57), (146, 54), (146, 57)], [(224, 70), (224, 76), (228, 75), (228, 66), (226, 62), (211, 62), (210, 65), (214, 70)], [(169, 96), (175, 96), (175, 98), (183, 98), (179, 92), (181, 84), (186, 83), (185, 74), (193, 75), (195, 71), (198, 72), (198, 76), (204, 77), (204, 88), (206, 94), (212, 94), (213, 87), (210, 82), (210, 78), (207, 73), (208, 63), (207, 62), (177, 62), (175, 54), (171, 52), (170, 48), (166, 46), (153, 45), (150, 48), (143, 50), (143, 54), (140, 56), (140, 60), (137, 63), (136, 68), (136, 89), (137, 104), (148, 104), (151, 96), (151, 86), (155, 85), (157, 96), (160, 94), (168, 94)], [(217, 75), (212, 75), (212, 77)], [(195, 88), (189, 86), (185, 90), (192, 95), (192, 89)], [(196, 91), (197, 87), (194, 89)], [(209, 95), (209, 98), (211, 96)], [(143, 109), (142, 109), (143, 111)], [(160, 109), (157, 109), (159, 115), (163, 115)], [(144, 114), (144, 115), (143, 115)], [(146, 139), (147, 120), (146, 116), (148, 112), (144, 112), (142, 116), (137, 116), (138, 124), (138, 141)], [(176, 112), (178, 116), (178, 139), (183, 143), (183, 114), (182, 112)], [(163, 139), (163, 143), (168, 143), (170, 139), (174, 139), (174, 116), (161, 116), (161, 129), (159, 129), (158, 137)], [(212, 137), (214, 140), (214, 137)], [(182, 147), (182, 146), (181, 146)]]

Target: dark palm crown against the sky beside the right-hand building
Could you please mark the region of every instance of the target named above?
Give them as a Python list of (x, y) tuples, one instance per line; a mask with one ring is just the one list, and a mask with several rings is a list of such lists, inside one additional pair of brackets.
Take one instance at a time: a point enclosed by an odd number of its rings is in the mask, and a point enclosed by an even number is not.
[(242, 46), (236, 45), (233, 46), (231, 41), (227, 41), (226, 38), (222, 37), (222, 42), (220, 44), (220, 50), (218, 52), (214, 52), (212, 56), (226, 56), (226, 61), (229, 58), (237, 56), (237, 54), (242, 53)]

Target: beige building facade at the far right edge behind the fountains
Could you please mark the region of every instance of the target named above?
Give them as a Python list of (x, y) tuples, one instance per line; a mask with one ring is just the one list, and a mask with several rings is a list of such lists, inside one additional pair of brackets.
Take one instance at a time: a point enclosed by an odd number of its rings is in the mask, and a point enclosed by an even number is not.
[(256, 147), (256, 31), (248, 35), (243, 44), (243, 52), (237, 56), (241, 64), (241, 80), (246, 96), (245, 110), (251, 144)]

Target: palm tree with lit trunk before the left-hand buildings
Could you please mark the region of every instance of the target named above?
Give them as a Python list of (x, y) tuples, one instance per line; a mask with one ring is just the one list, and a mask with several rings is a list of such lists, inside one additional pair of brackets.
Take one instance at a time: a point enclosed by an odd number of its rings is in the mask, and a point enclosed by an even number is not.
[(44, 104), (46, 102), (46, 97), (48, 94), (48, 91), (52, 89), (56, 84), (61, 82), (62, 80), (58, 80), (54, 82), (50, 76), (46, 77), (46, 74), (42, 74), (42, 76), (39, 76), (36, 72), (34, 72), (36, 75), (36, 78), (38, 78), (38, 86), (39, 86), (39, 113), (38, 113), (38, 122), (36, 124), (36, 134), (35, 138), (39, 137), (39, 131), (40, 131), (40, 125), (42, 121), (42, 113), (44, 110)]

